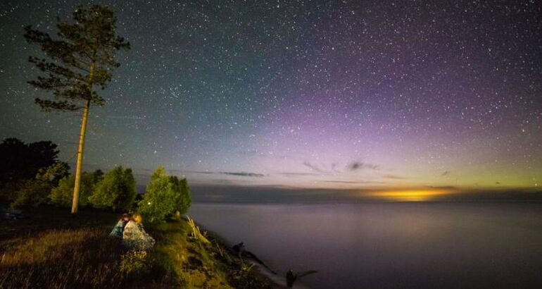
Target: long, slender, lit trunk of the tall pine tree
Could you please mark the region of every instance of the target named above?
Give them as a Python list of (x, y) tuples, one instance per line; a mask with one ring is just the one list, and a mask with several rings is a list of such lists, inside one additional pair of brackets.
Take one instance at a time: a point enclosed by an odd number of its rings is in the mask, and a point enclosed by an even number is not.
[(77, 214), (79, 207), (79, 190), (81, 187), (81, 171), (83, 168), (84, 135), (87, 133), (87, 121), (89, 119), (90, 99), (92, 98), (92, 78), (94, 78), (94, 62), (90, 63), (89, 73), (89, 98), (84, 102), (83, 119), (81, 121), (81, 133), (79, 135), (79, 148), (77, 149), (77, 166), (75, 167), (75, 184), (73, 185), (72, 214)]

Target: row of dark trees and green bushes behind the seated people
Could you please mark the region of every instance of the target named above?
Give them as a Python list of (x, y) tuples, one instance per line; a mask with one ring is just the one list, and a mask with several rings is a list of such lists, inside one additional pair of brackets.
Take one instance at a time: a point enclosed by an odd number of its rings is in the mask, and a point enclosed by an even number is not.
[[(37, 207), (50, 204), (70, 207), (75, 176), (70, 166), (58, 160), (58, 146), (50, 141), (26, 144), (16, 138), (0, 143), (0, 203), (10, 207)], [(146, 187), (146, 194), (137, 194), (137, 183), (131, 168), (115, 166), (83, 172), (78, 203), (80, 207), (138, 211), (149, 221), (163, 221), (170, 216), (185, 214), (191, 204), (186, 178), (168, 176), (158, 166)]]

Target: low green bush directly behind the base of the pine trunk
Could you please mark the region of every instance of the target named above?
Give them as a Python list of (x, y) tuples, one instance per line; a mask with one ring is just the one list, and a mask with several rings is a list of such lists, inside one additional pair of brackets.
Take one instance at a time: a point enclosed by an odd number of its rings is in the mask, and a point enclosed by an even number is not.
[[(94, 192), (94, 187), (103, 179), (103, 172), (96, 170), (94, 173), (83, 172), (81, 175), (81, 188), (79, 195), (79, 205), (81, 207), (87, 207), (89, 205), (89, 197)], [(52, 204), (58, 204), (63, 207), (71, 207), (73, 199), (73, 185), (75, 184), (75, 176), (70, 175), (58, 182), (58, 186), (53, 187), (51, 190)]]

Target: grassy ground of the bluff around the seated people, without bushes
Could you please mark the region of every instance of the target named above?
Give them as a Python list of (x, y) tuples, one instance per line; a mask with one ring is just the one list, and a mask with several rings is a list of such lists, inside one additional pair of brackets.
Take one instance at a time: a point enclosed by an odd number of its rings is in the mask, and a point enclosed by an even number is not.
[(23, 214), (0, 221), (0, 288), (277, 288), (219, 240), (194, 238), (184, 219), (149, 226), (156, 246), (141, 253), (108, 237), (118, 214)]

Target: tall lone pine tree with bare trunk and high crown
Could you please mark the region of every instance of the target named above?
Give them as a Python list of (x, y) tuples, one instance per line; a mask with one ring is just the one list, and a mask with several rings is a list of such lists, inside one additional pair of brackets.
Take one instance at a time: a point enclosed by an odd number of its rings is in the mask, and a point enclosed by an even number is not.
[(25, 38), (38, 44), (46, 59), (30, 56), (45, 76), (29, 81), (30, 85), (48, 92), (52, 98), (35, 99), (43, 111), (83, 111), (77, 167), (73, 189), (72, 213), (77, 213), (84, 149), (84, 135), (91, 104), (102, 106), (105, 99), (96, 92), (111, 81), (112, 71), (120, 66), (115, 52), (130, 49), (130, 43), (115, 32), (115, 13), (108, 6), (80, 6), (73, 12), (73, 21), (57, 18), (58, 37), (51, 38), (46, 32), (25, 27)]

